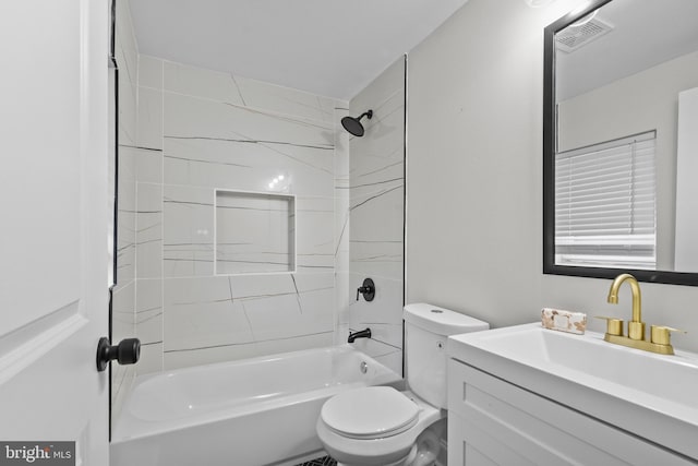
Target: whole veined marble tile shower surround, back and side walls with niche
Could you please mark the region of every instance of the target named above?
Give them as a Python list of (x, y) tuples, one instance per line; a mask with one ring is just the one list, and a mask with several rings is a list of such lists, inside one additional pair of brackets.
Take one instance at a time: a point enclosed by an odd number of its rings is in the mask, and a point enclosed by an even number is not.
[[(404, 60), (349, 111), (132, 45), (119, 212), (131, 278), (116, 303), (119, 336), (143, 345), (136, 373), (345, 344), (364, 326), (373, 338), (356, 345), (401, 373)], [(340, 119), (368, 108), (365, 136), (350, 136)], [(356, 301), (364, 276), (371, 303)]]

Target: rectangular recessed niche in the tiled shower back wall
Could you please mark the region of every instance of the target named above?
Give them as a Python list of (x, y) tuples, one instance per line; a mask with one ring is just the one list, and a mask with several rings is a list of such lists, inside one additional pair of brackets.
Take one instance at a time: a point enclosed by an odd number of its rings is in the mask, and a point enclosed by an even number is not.
[(296, 198), (216, 190), (216, 275), (296, 272)]

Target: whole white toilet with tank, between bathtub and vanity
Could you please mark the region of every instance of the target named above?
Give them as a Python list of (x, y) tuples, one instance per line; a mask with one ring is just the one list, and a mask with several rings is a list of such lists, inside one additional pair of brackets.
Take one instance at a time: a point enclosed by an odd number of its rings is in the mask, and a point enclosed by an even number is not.
[(368, 386), (323, 405), (316, 431), (339, 466), (426, 466), (446, 425), (446, 339), (486, 322), (426, 303), (404, 310), (407, 391)]

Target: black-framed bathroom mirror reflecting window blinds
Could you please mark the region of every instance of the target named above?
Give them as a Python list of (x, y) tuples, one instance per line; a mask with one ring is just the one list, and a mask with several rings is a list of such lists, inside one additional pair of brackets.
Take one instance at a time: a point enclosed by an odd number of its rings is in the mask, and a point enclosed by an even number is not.
[(698, 286), (698, 2), (544, 31), (543, 273)]

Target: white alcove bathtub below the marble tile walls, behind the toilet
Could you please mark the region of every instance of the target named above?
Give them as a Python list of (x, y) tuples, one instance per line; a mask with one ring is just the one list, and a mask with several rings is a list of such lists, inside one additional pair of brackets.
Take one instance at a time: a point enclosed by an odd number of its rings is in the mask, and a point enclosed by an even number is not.
[(315, 422), (336, 393), (401, 379), (349, 345), (136, 378), (111, 466), (293, 465), (322, 451)]

